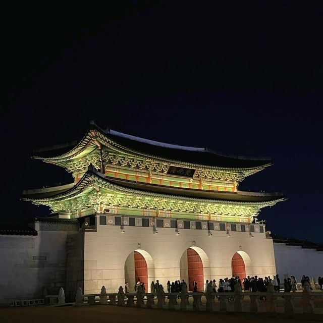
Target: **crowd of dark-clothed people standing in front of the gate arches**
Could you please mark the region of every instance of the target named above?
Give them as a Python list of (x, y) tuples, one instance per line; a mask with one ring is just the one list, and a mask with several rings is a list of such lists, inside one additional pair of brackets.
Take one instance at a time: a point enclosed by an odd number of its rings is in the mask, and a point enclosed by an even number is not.
[[(303, 275), (301, 279), (301, 285), (303, 286), (305, 282), (308, 282), (310, 284), (310, 279), (308, 276)], [(283, 284), (281, 284), (281, 280), (279, 275), (275, 275), (273, 279), (268, 276), (268, 277), (249, 277), (247, 276), (246, 278), (243, 278), (241, 281), (239, 276), (237, 277), (232, 277), (232, 278), (225, 278), (225, 279), (220, 279), (218, 284), (215, 279), (213, 280), (206, 280), (205, 285), (203, 288), (200, 288), (198, 286), (197, 281), (193, 281), (193, 284), (190, 286), (190, 288), (187, 288), (187, 284), (184, 281), (175, 281), (175, 282), (167, 282), (167, 292), (168, 293), (180, 293), (182, 291), (183, 285), (186, 286), (186, 290), (190, 290), (192, 292), (197, 292), (197, 291), (203, 291), (204, 293), (208, 291), (212, 291), (214, 293), (225, 293), (225, 292), (234, 292), (237, 286), (239, 285), (241, 290), (244, 292), (266, 292), (268, 289), (268, 285), (271, 283), (271, 285), (274, 288), (274, 291), (280, 292), (281, 289), (284, 290), (285, 293), (293, 292), (295, 293), (297, 290), (297, 281), (295, 276), (290, 276), (288, 278), (284, 279)], [(323, 277), (318, 278), (318, 285), (320, 286), (320, 290), (322, 290), (323, 286)], [(143, 293), (146, 292), (146, 286), (143, 282), (138, 281), (135, 284), (134, 287), (135, 293), (139, 291), (142, 291)], [(159, 284), (159, 281), (156, 280), (156, 282), (151, 282), (150, 284), (150, 292), (153, 294), (158, 294), (158, 291), (163, 291), (164, 292), (164, 287), (163, 285)], [(129, 293), (129, 286), (128, 283), (125, 285), (125, 292)], [(166, 291), (165, 291), (166, 292)]]

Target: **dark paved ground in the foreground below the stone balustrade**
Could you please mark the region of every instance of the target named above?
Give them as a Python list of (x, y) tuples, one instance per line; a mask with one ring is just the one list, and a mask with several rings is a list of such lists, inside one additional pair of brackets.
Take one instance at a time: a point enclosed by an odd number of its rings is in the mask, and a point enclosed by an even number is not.
[[(321, 319), (323, 320), (323, 315)], [(300, 317), (299, 317), (300, 318)], [(305, 317), (297, 322), (319, 320), (319, 317)], [(70, 306), (70, 307), (16, 307), (0, 308), (1, 323), (292, 323), (291, 318), (269, 317), (260, 314), (207, 313), (192, 311), (171, 311), (163, 309), (129, 308), (118, 306)]]

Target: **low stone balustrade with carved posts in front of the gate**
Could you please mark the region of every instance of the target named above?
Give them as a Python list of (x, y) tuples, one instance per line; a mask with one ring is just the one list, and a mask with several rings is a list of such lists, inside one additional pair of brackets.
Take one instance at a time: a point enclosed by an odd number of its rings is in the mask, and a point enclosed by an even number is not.
[[(46, 295), (50, 305), (64, 304), (64, 291), (59, 295)], [(59, 300), (59, 301), (58, 301)], [(64, 300), (65, 301), (65, 300)], [(221, 311), (221, 312), (271, 312), (323, 314), (323, 293), (304, 289), (298, 293), (106, 293), (83, 295), (79, 288), (75, 305), (119, 305), (173, 310)]]

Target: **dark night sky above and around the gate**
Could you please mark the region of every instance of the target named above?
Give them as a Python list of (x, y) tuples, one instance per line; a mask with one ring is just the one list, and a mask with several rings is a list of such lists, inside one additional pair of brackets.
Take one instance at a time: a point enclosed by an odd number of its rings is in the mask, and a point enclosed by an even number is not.
[(260, 218), (276, 234), (322, 243), (321, 3), (118, 3), (3, 11), (0, 222), (48, 214), (20, 201), (22, 190), (72, 179), (32, 150), (81, 138), (95, 120), (272, 156), (239, 188), (284, 192), (288, 201)]

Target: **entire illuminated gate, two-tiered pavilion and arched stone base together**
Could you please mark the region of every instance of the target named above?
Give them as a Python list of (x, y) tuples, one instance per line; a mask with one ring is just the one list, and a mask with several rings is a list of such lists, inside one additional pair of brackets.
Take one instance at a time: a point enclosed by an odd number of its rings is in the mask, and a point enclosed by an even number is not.
[[(102, 130), (92, 124), (74, 146), (35, 158), (65, 168), (74, 183), (24, 191), (57, 221), (74, 221), (68, 235), (67, 292), (81, 286), (116, 291), (125, 280), (206, 279), (276, 274), (272, 239), (253, 223), (279, 193), (238, 190), (271, 165), (268, 159), (224, 156)], [(250, 239), (253, 238), (253, 239)], [(77, 246), (77, 248), (75, 247)], [(149, 289), (149, 288), (148, 288)]]

